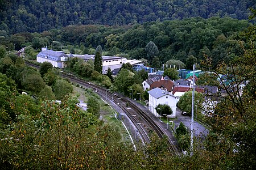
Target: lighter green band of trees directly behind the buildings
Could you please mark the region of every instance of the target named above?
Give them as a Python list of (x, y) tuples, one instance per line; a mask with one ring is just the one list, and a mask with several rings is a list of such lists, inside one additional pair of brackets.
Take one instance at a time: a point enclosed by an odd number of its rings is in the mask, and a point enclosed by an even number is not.
[[(3, 25), (3, 24), (2, 24)], [(242, 54), (239, 32), (247, 28), (247, 20), (219, 18), (190, 18), (164, 22), (146, 22), (129, 26), (69, 25), (61, 29), (49, 29), (42, 33), (16, 33), (1, 36), (0, 44), (18, 50), (32, 45), (34, 49), (49, 46), (61, 50), (61, 46), (80, 49), (76, 53), (90, 53), (98, 45), (109, 56), (125, 55), (128, 58), (147, 59), (152, 63), (159, 59), (166, 63), (178, 59), (187, 65), (200, 63), (206, 54), (214, 65), (230, 57)], [(154, 43), (152, 43), (152, 42)], [(155, 45), (156, 52), (146, 46)], [(150, 49), (150, 48), (149, 48)], [(70, 50), (70, 49), (69, 49)], [(234, 54), (234, 55), (233, 55)], [(156, 67), (156, 66), (154, 66)]]

